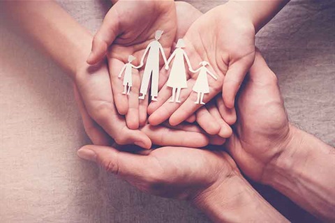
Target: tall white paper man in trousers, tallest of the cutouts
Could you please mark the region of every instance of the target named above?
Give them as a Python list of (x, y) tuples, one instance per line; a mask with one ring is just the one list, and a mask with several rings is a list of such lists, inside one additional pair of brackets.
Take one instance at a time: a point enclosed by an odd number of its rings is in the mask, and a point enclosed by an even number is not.
[(144, 54), (141, 59), (141, 67), (144, 64), (144, 58), (146, 54), (148, 53), (147, 57), (147, 63), (145, 64), (144, 68), (144, 74), (142, 79), (142, 84), (140, 88), (140, 93), (142, 95), (139, 97), (140, 99), (144, 99), (145, 95), (147, 95), (148, 87), (149, 87), (149, 81), (151, 78), (151, 100), (157, 101), (158, 96), (158, 78), (159, 78), (159, 52), (161, 51), (161, 54), (164, 59), (165, 66), (167, 65), (166, 56), (164, 53), (164, 49), (161, 45), (161, 43), (158, 42), (158, 40), (162, 37), (163, 31), (156, 31), (155, 38), (156, 40), (149, 43), (147, 46), (147, 49), (145, 49)]

